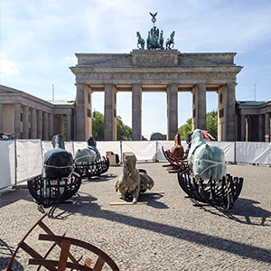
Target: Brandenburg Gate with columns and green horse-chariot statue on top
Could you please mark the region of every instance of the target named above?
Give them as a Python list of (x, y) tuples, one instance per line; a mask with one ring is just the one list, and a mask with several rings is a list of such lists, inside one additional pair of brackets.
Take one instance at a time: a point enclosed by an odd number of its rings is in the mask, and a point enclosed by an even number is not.
[(142, 136), (145, 91), (167, 94), (167, 140), (172, 140), (178, 130), (178, 110), (182, 109), (178, 92), (192, 93), (192, 129), (206, 129), (206, 92), (217, 92), (218, 140), (236, 140), (235, 87), (242, 69), (234, 63), (236, 53), (183, 53), (171, 48), (170, 39), (164, 48), (163, 31), (159, 34), (155, 26), (148, 34), (147, 49), (140, 33), (137, 37), (141, 48), (130, 53), (76, 53), (78, 64), (70, 67), (77, 88), (75, 140), (85, 141), (92, 135), (91, 94), (96, 91), (105, 93), (106, 141), (117, 140), (117, 92), (122, 91), (132, 92), (133, 140), (141, 140)]

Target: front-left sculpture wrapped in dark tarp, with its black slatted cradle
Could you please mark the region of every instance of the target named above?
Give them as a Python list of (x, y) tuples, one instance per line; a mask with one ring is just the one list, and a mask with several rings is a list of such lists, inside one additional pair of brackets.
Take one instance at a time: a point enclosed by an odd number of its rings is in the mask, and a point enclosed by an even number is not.
[(41, 207), (48, 208), (67, 201), (81, 184), (81, 176), (74, 172), (73, 158), (65, 150), (62, 135), (54, 135), (53, 149), (43, 157), (42, 174), (28, 181), (28, 190)]

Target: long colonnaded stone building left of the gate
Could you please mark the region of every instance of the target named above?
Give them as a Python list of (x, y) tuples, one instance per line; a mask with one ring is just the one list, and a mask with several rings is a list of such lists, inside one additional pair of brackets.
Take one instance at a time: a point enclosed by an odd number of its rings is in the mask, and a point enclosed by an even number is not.
[(74, 101), (44, 101), (0, 85), (0, 132), (15, 138), (51, 140), (56, 134), (74, 139)]

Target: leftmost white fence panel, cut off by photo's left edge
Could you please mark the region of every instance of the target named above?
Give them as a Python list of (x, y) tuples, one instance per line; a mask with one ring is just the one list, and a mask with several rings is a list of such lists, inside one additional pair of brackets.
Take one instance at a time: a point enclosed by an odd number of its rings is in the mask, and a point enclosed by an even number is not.
[(0, 140), (0, 189), (15, 183), (15, 143)]

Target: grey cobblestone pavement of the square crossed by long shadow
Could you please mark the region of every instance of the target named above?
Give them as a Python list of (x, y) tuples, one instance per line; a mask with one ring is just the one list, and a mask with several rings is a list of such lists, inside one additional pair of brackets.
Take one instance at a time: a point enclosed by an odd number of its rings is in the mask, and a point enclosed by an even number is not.
[[(245, 180), (233, 209), (221, 211), (194, 207), (177, 175), (163, 164), (136, 165), (154, 179), (152, 192), (139, 198), (145, 203), (109, 204), (121, 201), (114, 183), (122, 170), (110, 167), (102, 177), (83, 182), (73, 203), (59, 205), (44, 222), (55, 234), (66, 232), (101, 248), (120, 270), (271, 270), (271, 168), (228, 164), (228, 173)], [(41, 217), (25, 185), (0, 192), (1, 270)], [(44, 254), (37, 234), (28, 243)], [(28, 258), (19, 251), (14, 270), (36, 270), (26, 266)]]

